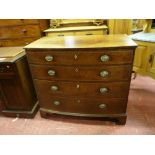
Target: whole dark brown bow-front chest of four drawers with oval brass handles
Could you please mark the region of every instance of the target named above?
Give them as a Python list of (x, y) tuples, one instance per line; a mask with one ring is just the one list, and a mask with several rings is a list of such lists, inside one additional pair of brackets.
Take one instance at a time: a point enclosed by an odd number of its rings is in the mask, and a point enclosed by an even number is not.
[(43, 37), (26, 46), (41, 116), (125, 124), (135, 48), (126, 35)]

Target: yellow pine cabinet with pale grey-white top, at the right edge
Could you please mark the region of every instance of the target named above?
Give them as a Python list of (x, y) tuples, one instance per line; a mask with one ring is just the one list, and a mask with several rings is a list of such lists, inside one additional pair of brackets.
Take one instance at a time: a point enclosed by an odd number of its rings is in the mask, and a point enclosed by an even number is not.
[(136, 33), (130, 36), (138, 47), (135, 51), (133, 70), (155, 79), (155, 33)]

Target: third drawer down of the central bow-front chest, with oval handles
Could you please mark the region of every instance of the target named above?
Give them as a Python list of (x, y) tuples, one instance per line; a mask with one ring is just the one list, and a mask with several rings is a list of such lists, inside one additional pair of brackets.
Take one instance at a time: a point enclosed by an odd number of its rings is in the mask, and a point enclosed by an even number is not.
[[(80, 97), (118, 97), (128, 96), (129, 82), (56, 82), (34, 80), (38, 95), (80, 96)], [(46, 93), (45, 93), (46, 92)]]

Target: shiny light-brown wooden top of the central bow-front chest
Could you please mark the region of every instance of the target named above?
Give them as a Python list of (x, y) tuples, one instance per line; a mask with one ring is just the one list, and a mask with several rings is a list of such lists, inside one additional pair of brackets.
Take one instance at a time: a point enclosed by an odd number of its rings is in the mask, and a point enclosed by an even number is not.
[(43, 37), (25, 46), (25, 49), (89, 49), (131, 47), (137, 44), (127, 35), (93, 35)]

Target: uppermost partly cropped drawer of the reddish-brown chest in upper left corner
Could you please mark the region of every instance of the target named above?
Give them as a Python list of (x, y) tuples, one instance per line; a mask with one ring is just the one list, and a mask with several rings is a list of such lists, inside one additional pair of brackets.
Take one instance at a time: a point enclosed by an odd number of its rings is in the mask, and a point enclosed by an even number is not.
[(14, 26), (23, 24), (38, 24), (37, 19), (0, 19), (0, 26)]

